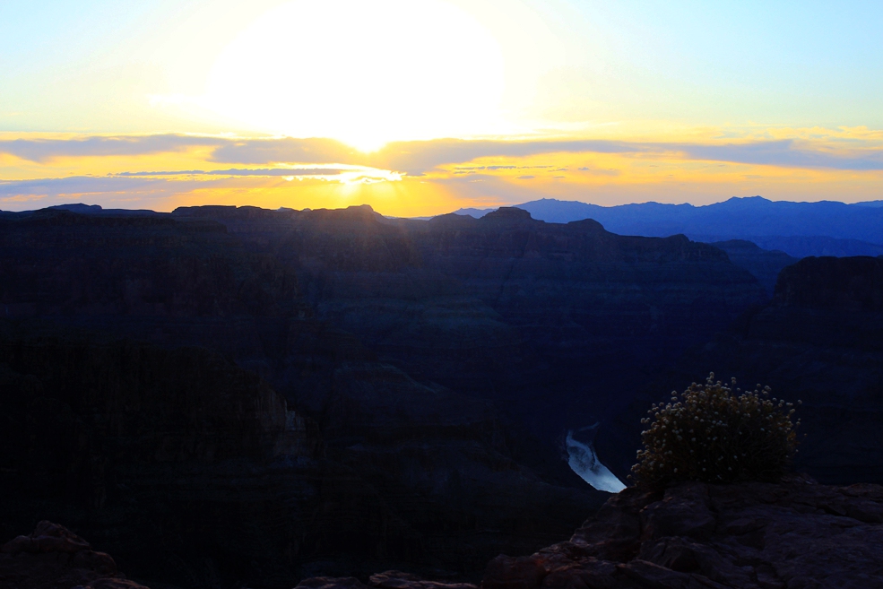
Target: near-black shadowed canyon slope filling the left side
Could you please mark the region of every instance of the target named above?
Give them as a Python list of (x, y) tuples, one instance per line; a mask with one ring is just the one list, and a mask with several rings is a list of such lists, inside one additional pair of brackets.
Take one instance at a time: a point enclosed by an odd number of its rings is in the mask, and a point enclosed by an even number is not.
[(4, 530), (50, 517), (148, 578), (283, 586), (378, 562), (463, 574), (600, 504), (525, 465), (491, 403), (316, 320), (298, 267), (218, 222), (4, 223)]

